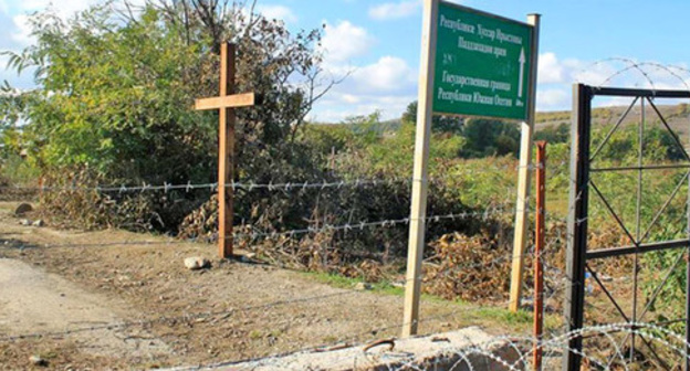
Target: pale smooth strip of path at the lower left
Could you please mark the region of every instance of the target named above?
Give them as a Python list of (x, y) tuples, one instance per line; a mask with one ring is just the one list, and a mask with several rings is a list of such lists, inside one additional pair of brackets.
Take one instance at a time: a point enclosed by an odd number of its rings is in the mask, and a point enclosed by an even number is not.
[[(8, 333), (62, 332), (122, 322), (127, 311), (123, 304), (88, 293), (55, 274), (0, 258), (0, 329)], [(98, 357), (155, 358), (169, 352), (160, 341), (126, 339), (108, 329), (74, 333), (73, 341)]]

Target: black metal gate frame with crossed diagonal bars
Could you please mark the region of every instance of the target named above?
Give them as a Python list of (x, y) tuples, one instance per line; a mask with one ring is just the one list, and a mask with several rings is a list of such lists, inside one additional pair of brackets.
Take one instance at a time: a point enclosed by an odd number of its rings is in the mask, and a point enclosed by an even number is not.
[[(590, 155), (590, 129), (592, 129), (592, 100), (596, 96), (615, 96), (615, 97), (631, 97), (634, 98), (630, 106), (627, 110), (621, 115), (616, 125), (611, 128), (611, 130), (607, 134), (604, 140), (597, 146), (594, 152)], [(615, 88), (615, 87), (594, 87), (583, 84), (573, 85), (573, 117), (575, 118), (575, 123), (572, 127), (572, 148), (571, 148), (571, 200), (569, 205), (571, 210), (568, 212), (568, 223), (567, 223), (567, 261), (566, 261), (566, 274), (571, 280), (571, 285), (566, 289), (565, 297), (565, 320), (568, 331), (576, 331), (583, 328), (584, 326), (584, 310), (585, 310), (585, 272), (589, 272), (592, 277), (596, 280), (596, 283), (602, 287), (602, 292), (606, 294), (608, 299), (614, 304), (616, 310), (620, 314), (620, 316), (628, 324), (634, 324), (640, 321), (644, 316), (647, 314), (652, 303), (656, 300), (657, 296), (660, 294), (661, 288), (666, 284), (666, 280), (670, 276), (670, 273), (678, 266), (681, 262), (681, 258), (686, 255), (686, 252), (690, 247), (690, 240), (676, 240), (676, 241), (662, 241), (662, 242), (652, 242), (645, 243), (645, 240), (648, 237), (652, 226), (657, 223), (659, 216), (666, 211), (668, 205), (671, 203), (673, 198), (680, 191), (682, 184), (687, 181), (690, 181), (690, 156), (683, 148), (680, 139), (676, 135), (676, 132), (668, 125), (657, 106), (655, 105), (655, 98), (690, 98), (690, 92), (688, 91), (650, 91), (650, 89), (630, 89), (630, 88)], [(637, 105), (641, 105), (641, 119), (639, 124), (639, 157), (637, 166), (632, 167), (619, 167), (619, 168), (592, 168), (592, 162), (595, 160), (602, 148), (608, 142), (614, 132), (620, 127), (626, 116), (630, 113), (630, 110)], [(673, 137), (676, 145), (680, 148), (682, 156), (686, 161), (673, 163), (673, 165), (657, 165), (657, 166), (645, 166), (642, 163), (642, 135), (645, 128), (645, 114), (646, 114), (646, 105), (649, 105), (651, 109), (658, 115), (666, 129), (669, 130), (671, 136)], [(668, 201), (661, 206), (661, 209), (655, 214), (651, 224), (647, 227), (646, 231), (641, 231), (640, 229), (640, 208), (641, 208), (641, 197), (642, 197), (642, 172), (644, 171), (654, 171), (659, 169), (688, 169), (684, 177), (680, 180), (679, 184), (676, 187), (671, 197)], [(613, 210), (606, 198), (602, 194), (599, 189), (589, 178), (590, 173), (594, 172), (606, 172), (606, 171), (637, 171), (638, 172), (638, 188), (637, 188), (637, 211), (636, 211), (636, 231), (629, 231), (620, 218)], [(589, 205), (589, 190), (593, 190), (594, 193), (603, 201), (605, 208), (611, 214), (611, 216), (616, 220), (618, 225), (620, 225), (623, 232), (630, 241), (631, 245), (624, 247), (615, 247), (615, 248), (605, 248), (605, 250), (596, 250), (596, 251), (587, 251), (587, 219), (588, 219), (588, 205)], [(690, 213), (690, 208), (688, 210)], [(690, 218), (688, 218), (690, 222)], [(689, 227), (686, 225), (684, 227)], [(690, 230), (690, 227), (689, 227)], [(632, 233), (634, 232), (634, 233)], [(665, 279), (661, 284), (654, 290), (650, 296), (647, 306), (645, 309), (638, 314), (637, 312), (637, 285), (638, 285), (638, 256), (644, 253), (655, 252), (655, 251), (663, 251), (663, 250), (672, 250), (678, 248), (681, 250), (680, 254), (676, 258), (669, 272), (666, 274)], [(602, 283), (602, 280), (597, 277), (596, 273), (589, 267), (587, 264), (588, 261), (607, 258), (613, 256), (623, 256), (623, 255), (634, 255), (635, 257), (635, 267), (634, 267), (634, 297), (632, 297), (632, 316), (628, 317), (623, 308), (618, 305), (616, 299), (613, 297), (610, 292), (606, 288), (606, 286)], [(688, 275), (688, 284), (690, 284), (690, 264), (688, 264), (687, 268)], [(673, 320), (675, 322), (684, 321), (686, 322), (686, 339), (690, 343), (690, 296), (688, 295), (689, 290), (686, 287), (686, 318)], [(669, 321), (672, 322), (672, 321)], [(667, 322), (668, 324), (668, 322)], [(651, 354), (656, 358), (657, 362), (669, 369), (666, 362), (657, 354), (655, 349), (644, 337), (639, 337), (641, 339), (641, 343), (645, 344), (650, 351)], [(624, 339), (624, 343), (630, 340), (630, 357), (634, 357), (635, 353), (635, 335), (628, 335)], [(583, 348), (583, 337), (574, 337), (568, 342), (568, 353), (564, 357), (563, 369), (567, 371), (579, 371), (582, 363), (582, 348)], [(688, 354), (690, 354), (690, 349), (686, 347), (686, 370), (690, 371), (690, 362), (688, 361)]]

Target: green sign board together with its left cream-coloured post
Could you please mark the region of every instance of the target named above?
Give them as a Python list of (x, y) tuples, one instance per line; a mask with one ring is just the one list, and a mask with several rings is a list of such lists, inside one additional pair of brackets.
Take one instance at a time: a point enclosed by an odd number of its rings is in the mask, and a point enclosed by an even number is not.
[(526, 23), (424, 0), (404, 337), (417, 333), (419, 320), (432, 114), (534, 117), (536, 32)]

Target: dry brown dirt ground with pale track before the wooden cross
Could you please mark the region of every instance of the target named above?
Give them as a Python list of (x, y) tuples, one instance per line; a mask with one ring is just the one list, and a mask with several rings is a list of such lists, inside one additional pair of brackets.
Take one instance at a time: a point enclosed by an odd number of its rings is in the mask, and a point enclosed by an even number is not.
[[(399, 332), (401, 296), (220, 261), (211, 245), (23, 226), (11, 215), (14, 205), (0, 203), (0, 369), (31, 368), (36, 353), (55, 370), (212, 364)], [(188, 271), (188, 256), (207, 257), (212, 267)], [(427, 333), (468, 325), (499, 331), (491, 318), (457, 304), (421, 308)], [(128, 326), (116, 330), (7, 339), (123, 321)]]

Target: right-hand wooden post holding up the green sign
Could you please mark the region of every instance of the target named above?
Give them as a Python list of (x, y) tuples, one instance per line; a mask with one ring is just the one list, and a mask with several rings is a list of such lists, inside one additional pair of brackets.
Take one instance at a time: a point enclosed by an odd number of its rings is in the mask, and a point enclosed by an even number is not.
[(530, 199), (530, 166), (532, 165), (532, 136), (534, 131), (536, 102), (536, 67), (539, 64), (540, 14), (527, 15), (527, 23), (534, 29), (532, 35), (532, 62), (530, 64), (530, 96), (527, 99), (527, 120), (522, 123), (520, 144), (520, 169), (518, 172), (518, 203), (515, 211), (515, 235), (513, 241), (513, 266), (511, 275), (510, 310), (518, 311), (522, 295), (522, 274), (525, 245), (527, 242), (527, 206)]

